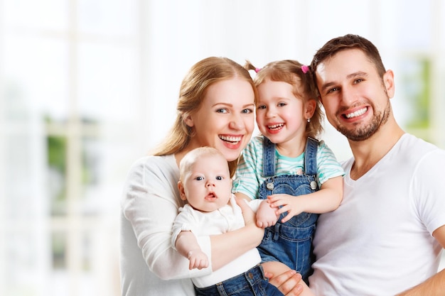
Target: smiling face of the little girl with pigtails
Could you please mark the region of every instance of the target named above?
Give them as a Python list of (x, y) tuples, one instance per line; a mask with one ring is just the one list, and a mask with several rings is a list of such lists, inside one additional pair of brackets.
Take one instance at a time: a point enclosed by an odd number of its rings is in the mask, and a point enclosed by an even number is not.
[(305, 138), (306, 122), (313, 114), (315, 102), (304, 103), (286, 82), (264, 80), (257, 89), (257, 125), (262, 135), (279, 146), (293, 145)]

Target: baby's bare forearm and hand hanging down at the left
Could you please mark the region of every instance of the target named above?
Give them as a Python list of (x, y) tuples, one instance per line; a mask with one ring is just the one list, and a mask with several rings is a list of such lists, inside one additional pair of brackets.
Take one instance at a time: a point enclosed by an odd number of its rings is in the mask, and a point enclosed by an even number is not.
[(175, 248), (182, 256), (190, 261), (188, 269), (207, 268), (208, 257), (205, 255), (196, 240), (195, 234), (191, 231), (181, 231), (176, 239)]

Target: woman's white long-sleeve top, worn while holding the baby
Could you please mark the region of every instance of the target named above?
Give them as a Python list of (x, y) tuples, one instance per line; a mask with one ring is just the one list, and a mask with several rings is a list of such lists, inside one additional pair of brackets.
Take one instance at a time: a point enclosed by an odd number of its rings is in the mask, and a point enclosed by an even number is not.
[[(129, 170), (121, 203), (123, 296), (193, 296), (191, 278), (211, 273), (211, 263), (188, 270), (187, 258), (171, 246), (173, 221), (184, 205), (178, 180), (173, 155), (146, 156)], [(200, 236), (198, 243), (211, 258), (210, 237)]]

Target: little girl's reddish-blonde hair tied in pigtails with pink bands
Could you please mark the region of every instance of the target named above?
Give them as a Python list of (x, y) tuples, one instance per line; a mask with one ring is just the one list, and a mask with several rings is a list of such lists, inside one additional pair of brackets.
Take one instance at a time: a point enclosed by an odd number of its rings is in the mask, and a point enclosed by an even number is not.
[[(302, 98), (304, 102), (313, 99), (316, 101), (316, 108), (311, 117), (311, 122), (306, 124), (306, 136), (316, 138), (323, 131), (323, 111), (321, 102), (318, 99), (316, 85), (313, 82), (313, 73), (308, 66), (306, 72), (301, 67), (304, 66), (296, 60), (278, 60), (269, 62), (263, 68), (254, 67), (251, 62), (246, 61), (247, 70), (255, 70), (254, 84), (257, 87), (264, 80), (286, 82), (292, 85), (295, 97)], [(257, 98), (257, 97), (255, 97)], [(255, 104), (257, 101), (255, 101)]]

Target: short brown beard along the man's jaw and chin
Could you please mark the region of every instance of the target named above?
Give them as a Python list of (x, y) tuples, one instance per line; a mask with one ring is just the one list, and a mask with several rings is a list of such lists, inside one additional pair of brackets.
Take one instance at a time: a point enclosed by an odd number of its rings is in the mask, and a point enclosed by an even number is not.
[[(375, 109), (374, 109), (375, 111)], [(337, 122), (337, 131), (343, 133), (343, 135), (350, 141), (365, 141), (370, 136), (375, 134), (380, 126), (388, 121), (391, 113), (390, 99), (387, 100), (386, 108), (384, 111), (379, 111), (372, 116), (372, 120), (366, 126), (360, 126), (353, 129), (345, 128), (339, 122)]]

